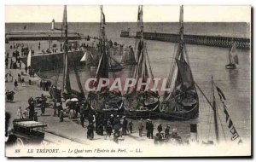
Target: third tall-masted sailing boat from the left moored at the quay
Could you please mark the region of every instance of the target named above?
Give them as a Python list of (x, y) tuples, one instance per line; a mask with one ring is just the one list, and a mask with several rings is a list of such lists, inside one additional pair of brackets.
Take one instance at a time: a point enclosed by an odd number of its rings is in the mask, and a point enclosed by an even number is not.
[[(159, 95), (157, 92), (145, 90), (142, 88), (137, 91), (138, 80), (142, 79), (146, 83), (148, 78), (154, 80), (154, 75), (148, 59), (147, 45), (143, 39), (143, 6), (139, 7), (138, 17), (140, 20), (141, 39), (137, 44), (137, 65), (132, 74), (132, 78), (136, 79), (136, 85), (126, 92), (125, 110), (130, 118), (148, 118), (154, 117), (159, 112)], [(158, 115), (157, 115), (158, 117)]]

